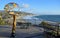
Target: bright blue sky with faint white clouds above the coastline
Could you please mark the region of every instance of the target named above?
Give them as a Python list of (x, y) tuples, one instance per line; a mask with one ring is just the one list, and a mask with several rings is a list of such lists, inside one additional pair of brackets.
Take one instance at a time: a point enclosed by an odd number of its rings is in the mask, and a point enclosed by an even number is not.
[(17, 3), (21, 10), (39, 15), (60, 15), (60, 0), (0, 0), (0, 10), (10, 2)]

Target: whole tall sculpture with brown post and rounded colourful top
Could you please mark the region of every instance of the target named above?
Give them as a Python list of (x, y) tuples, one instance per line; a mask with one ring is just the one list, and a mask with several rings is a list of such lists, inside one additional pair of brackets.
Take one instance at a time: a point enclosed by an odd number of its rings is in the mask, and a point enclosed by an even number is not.
[(18, 4), (16, 3), (8, 3), (5, 5), (4, 9), (6, 12), (8, 12), (10, 15), (13, 16), (13, 26), (12, 26), (12, 33), (11, 33), (11, 37), (15, 37), (15, 31), (16, 31), (16, 16), (18, 15), (17, 13), (15, 13), (14, 11), (16, 11), (18, 9)]

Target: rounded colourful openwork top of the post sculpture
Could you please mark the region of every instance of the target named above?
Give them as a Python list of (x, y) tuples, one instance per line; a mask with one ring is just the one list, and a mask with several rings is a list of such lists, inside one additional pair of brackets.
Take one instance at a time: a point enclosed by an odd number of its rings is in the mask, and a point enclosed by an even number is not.
[(4, 9), (5, 11), (16, 11), (16, 10), (19, 10), (19, 5), (14, 2), (11, 2), (6, 4)]

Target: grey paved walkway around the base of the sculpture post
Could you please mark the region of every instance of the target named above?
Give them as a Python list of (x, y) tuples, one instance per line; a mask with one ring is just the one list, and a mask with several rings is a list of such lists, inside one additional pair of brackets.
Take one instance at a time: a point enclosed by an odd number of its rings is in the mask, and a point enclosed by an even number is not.
[[(0, 26), (0, 38), (10, 38), (11, 26)], [(30, 27), (28, 29), (20, 29), (19, 26), (16, 28), (15, 38), (44, 38), (43, 28)]]

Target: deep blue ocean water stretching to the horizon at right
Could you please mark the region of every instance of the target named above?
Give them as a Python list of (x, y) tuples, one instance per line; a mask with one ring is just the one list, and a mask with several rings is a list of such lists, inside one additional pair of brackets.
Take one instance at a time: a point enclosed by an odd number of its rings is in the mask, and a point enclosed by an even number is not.
[(60, 15), (39, 15), (35, 17), (45, 21), (60, 22)]

